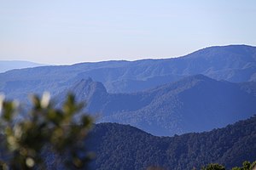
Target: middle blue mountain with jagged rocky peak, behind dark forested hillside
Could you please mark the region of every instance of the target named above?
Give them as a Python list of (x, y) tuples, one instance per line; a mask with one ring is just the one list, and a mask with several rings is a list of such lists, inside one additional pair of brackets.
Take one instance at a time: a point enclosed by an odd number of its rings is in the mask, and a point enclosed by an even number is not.
[(68, 91), (87, 101), (99, 122), (131, 124), (154, 135), (202, 132), (253, 116), (256, 82), (216, 81), (203, 75), (185, 77), (157, 88), (131, 94), (109, 94), (101, 82), (82, 80)]

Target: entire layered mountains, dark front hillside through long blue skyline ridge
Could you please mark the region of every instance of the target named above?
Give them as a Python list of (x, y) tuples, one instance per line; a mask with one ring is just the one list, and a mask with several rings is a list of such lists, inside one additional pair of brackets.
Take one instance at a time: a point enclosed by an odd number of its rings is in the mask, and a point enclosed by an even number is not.
[(0, 73), (0, 94), (21, 105), (27, 105), (27, 94), (44, 91), (56, 107), (72, 92), (96, 116), (88, 141), (96, 152), (93, 169), (179, 170), (211, 162), (230, 168), (255, 161), (256, 47)]

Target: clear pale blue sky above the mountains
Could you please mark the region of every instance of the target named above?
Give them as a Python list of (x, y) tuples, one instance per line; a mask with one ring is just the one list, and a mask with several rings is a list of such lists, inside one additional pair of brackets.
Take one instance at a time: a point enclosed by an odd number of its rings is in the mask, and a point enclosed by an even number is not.
[(255, 0), (0, 0), (0, 60), (70, 65), (256, 46)]

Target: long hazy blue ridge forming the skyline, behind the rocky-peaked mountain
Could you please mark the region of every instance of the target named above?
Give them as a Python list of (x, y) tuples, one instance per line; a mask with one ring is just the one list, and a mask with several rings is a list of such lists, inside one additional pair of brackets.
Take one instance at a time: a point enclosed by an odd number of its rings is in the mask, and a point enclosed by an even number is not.
[(29, 68), (0, 74), (0, 91), (19, 99), (24, 99), (25, 94), (43, 93), (45, 90), (55, 95), (88, 77), (102, 82), (111, 93), (142, 91), (195, 74), (230, 82), (256, 81), (255, 56), (256, 47), (230, 45), (204, 48), (174, 59)]

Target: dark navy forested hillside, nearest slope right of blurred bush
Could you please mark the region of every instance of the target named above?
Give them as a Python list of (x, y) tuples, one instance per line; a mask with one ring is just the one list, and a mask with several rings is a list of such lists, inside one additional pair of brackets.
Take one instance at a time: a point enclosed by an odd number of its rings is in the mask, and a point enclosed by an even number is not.
[(256, 158), (256, 116), (207, 133), (156, 137), (136, 127), (116, 123), (97, 124), (90, 136), (96, 151), (93, 169), (191, 170), (216, 162), (231, 167)]

